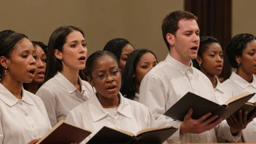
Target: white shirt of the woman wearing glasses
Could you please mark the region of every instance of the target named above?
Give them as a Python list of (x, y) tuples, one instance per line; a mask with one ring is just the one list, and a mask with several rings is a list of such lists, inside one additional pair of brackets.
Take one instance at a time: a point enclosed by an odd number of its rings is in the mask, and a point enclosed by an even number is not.
[(141, 129), (157, 127), (153, 115), (145, 105), (123, 97), (120, 92), (119, 97), (120, 104), (116, 113), (113, 113), (114, 116), (105, 111), (96, 95), (68, 113), (66, 121), (92, 132), (82, 143), (87, 143), (104, 126), (123, 129), (133, 134)]

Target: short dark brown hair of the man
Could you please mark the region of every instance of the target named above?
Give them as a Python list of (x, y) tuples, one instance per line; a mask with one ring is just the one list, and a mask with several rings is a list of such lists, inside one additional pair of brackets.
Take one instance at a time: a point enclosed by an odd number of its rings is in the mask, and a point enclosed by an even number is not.
[(172, 33), (176, 36), (176, 32), (179, 29), (178, 23), (180, 20), (196, 20), (197, 17), (193, 15), (191, 12), (185, 12), (185, 11), (175, 11), (169, 13), (166, 17), (164, 17), (164, 20), (161, 24), (161, 32), (164, 38), (165, 44), (167, 44), (167, 48), (169, 50), (169, 42), (167, 41), (167, 33)]

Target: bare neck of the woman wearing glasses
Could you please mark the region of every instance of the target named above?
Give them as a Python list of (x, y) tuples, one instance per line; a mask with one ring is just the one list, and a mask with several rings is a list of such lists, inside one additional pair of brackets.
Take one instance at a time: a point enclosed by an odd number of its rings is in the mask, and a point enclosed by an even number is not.
[(103, 96), (97, 96), (97, 99), (100, 101), (100, 104), (103, 105), (103, 108), (117, 108), (119, 107), (120, 98), (116, 96), (114, 98), (106, 98)]

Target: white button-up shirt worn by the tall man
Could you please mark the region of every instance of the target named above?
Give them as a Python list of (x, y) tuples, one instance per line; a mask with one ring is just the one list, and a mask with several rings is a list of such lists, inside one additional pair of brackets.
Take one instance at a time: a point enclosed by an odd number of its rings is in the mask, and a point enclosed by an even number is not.
[[(180, 129), (181, 121), (175, 121), (163, 114), (187, 92), (193, 92), (196, 95), (219, 103), (215, 99), (212, 83), (201, 71), (183, 65), (170, 55), (149, 71), (140, 84), (139, 102), (146, 105), (156, 122), (160, 126), (173, 126)], [(216, 143), (216, 135), (225, 137), (227, 140), (237, 141), (241, 134), (233, 137), (230, 127), (226, 121), (223, 121), (215, 129), (211, 129), (201, 134), (180, 135), (180, 130), (175, 132), (167, 140), (169, 143)]]

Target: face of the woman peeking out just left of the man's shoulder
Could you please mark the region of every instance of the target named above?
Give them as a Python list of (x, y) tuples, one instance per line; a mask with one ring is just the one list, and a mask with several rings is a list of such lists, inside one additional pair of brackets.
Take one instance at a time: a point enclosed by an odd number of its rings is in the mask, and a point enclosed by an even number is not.
[(156, 66), (157, 60), (156, 57), (151, 54), (151, 52), (145, 53), (136, 65), (135, 71), (135, 80), (136, 83), (140, 85), (140, 82), (143, 80), (144, 76), (151, 71), (151, 69)]

